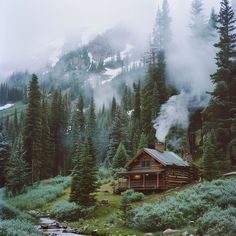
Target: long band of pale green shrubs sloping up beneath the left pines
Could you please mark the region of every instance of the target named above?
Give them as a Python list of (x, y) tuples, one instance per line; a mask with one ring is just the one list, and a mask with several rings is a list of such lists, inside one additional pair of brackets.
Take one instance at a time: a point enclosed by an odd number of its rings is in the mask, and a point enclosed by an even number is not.
[(9, 202), (23, 210), (40, 208), (62, 195), (64, 190), (69, 187), (70, 182), (70, 177), (61, 176), (44, 180), (38, 185), (27, 188), (25, 193), (9, 198)]

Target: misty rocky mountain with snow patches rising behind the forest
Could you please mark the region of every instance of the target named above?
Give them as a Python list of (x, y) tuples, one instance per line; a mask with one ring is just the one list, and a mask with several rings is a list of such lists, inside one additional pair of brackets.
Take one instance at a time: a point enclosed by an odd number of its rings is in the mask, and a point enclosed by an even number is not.
[(86, 91), (86, 94), (99, 96), (100, 106), (113, 96), (119, 97), (122, 83), (132, 85), (143, 77), (143, 55), (144, 49), (136, 43), (135, 35), (116, 27), (64, 54), (41, 71), (39, 77), (46, 90), (52, 87), (67, 89), (72, 100)]

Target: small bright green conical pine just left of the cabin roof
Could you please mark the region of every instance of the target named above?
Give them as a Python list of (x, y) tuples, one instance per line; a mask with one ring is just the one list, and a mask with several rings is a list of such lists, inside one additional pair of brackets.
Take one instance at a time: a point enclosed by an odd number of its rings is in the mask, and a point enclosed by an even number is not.
[(130, 157), (127, 154), (124, 144), (120, 143), (112, 161), (112, 168), (124, 168), (129, 159)]

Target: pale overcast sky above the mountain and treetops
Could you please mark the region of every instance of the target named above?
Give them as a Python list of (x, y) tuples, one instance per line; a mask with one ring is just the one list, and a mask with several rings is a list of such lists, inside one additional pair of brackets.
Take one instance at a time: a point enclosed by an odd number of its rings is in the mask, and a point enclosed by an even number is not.
[[(203, 1), (207, 14), (219, 1)], [(186, 27), (190, 3), (169, 0), (175, 29)], [(158, 0), (0, 0), (0, 75), (38, 69), (63, 45), (73, 48), (117, 24), (146, 43), (157, 5)]]

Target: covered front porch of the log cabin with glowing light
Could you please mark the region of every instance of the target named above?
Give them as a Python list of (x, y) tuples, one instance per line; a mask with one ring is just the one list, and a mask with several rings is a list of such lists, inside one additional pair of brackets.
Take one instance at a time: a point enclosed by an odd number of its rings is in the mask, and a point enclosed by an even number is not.
[(127, 189), (134, 189), (137, 191), (161, 190), (163, 189), (163, 180), (160, 176), (162, 171), (163, 170), (142, 170), (120, 172), (117, 175), (117, 190), (118, 192)]

